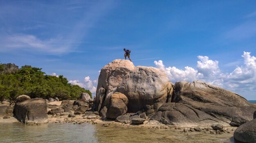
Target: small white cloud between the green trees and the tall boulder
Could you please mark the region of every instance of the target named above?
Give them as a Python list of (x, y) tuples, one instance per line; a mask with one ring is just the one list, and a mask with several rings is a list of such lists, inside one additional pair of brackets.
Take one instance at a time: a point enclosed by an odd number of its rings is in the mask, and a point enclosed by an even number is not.
[(79, 87), (83, 87), (85, 89), (89, 89), (92, 92), (92, 94), (95, 94), (98, 81), (90, 80), (90, 76), (86, 76), (84, 78), (84, 81), (82, 82), (79, 80), (70, 80), (69, 83), (71, 83), (72, 85), (79, 85)]

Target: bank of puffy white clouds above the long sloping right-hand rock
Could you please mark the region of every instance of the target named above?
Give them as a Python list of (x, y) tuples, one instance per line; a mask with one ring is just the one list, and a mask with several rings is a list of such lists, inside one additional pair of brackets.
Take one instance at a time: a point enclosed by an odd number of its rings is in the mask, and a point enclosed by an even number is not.
[(222, 73), (219, 62), (209, 59), (208, 56), (198, 56), (196, 69), (165, 67), (161, 60), (154, 63), (157, 68), (166, 72), (171, 82), (202, 80), (232, 91), (256, 91), (256, 57), (251, 56), (250, 52), (244, 52), (242, 57), (243, 65), (236, 67), (231, 73)]

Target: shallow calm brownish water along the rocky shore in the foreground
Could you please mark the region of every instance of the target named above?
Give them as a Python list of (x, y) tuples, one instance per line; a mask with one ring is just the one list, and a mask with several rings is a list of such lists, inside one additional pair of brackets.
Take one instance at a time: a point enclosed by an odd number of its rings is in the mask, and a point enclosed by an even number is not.
[[(129, 126), (129, 125), (128, 125)], [(0, 124), (0, 143), (234, 143), (233, 134), (182, 133), (181, 130), (104, 127), (92, 124)]]

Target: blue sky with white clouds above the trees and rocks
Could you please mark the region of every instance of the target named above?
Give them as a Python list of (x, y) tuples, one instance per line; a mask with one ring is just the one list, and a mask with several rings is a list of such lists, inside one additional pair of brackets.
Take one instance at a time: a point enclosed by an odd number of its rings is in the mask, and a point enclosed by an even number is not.
[(256, 100), (255, 0), (0, 0), (0, 62), (40, 67), (95, 94), (130, 49), (171, 82), (201, 80)]

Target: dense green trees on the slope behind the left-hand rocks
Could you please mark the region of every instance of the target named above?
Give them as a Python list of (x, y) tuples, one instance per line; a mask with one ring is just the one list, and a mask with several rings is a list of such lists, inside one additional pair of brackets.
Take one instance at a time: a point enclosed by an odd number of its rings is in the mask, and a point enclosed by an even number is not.
[(0, 100), (15, 100), (25, 94), (31, 98), (58, 98), (60, 100), (76, 100), (81, 93), (89, 90), (71, 85), (63, 75), (58, 77), (45, 75), (41, 68), (22, 66), (17, 69), (15, 64), (0, 63)]

